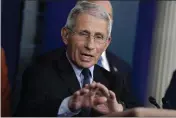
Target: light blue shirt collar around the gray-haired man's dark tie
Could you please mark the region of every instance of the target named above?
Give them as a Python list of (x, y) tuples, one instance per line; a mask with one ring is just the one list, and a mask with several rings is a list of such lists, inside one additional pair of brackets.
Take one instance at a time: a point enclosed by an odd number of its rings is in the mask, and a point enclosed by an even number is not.
[[(73, 64), (72, 61), (69, 59), (69, 56), (68, 56), (67, 52), (66, 52), (66, 57), (67, 57), (68, 61), (70, 62), (75, 74), (80, 76), (83, 68), (78, 68), (75, 64)], [(90, 70), (90, 73), (91, 73), (91, 77), (93, 78), (94, 65), (91, 66), (89, 68), (89, 70)]]

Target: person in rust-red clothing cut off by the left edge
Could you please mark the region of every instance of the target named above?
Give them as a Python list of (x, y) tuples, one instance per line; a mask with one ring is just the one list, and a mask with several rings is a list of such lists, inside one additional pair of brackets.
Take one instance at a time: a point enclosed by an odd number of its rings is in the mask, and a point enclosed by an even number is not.
[(1, 116), (11, 116), (10, 84), (8, 81), (8, 69), (4, 49), (1, 48)]

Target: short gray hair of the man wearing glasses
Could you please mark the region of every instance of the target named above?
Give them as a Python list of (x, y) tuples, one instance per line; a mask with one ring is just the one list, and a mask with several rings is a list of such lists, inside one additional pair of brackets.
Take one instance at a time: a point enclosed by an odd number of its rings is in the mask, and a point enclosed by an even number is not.
[(94, 17), (104, 19), (108, 23), (108, 37), (111, 35), (112, 30), (112, 20), (106, 10), (95, 3), (87, 2), (87, 1), (80, 1), (78, 2), (75, 7), (70, 11), (67, 22), (65, 27), (73, 29), (76, 25), (76, 19), (79, 14), (87, 13)]

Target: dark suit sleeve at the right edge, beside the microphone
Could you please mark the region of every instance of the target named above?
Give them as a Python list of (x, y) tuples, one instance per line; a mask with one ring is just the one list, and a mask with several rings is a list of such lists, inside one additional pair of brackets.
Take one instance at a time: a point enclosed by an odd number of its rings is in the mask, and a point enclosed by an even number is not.
[(168, 104), (163, 104), (163, 108), (176, 109), (176, 71), (173, 73), (170, 85), (165, 93), (165, 100)]

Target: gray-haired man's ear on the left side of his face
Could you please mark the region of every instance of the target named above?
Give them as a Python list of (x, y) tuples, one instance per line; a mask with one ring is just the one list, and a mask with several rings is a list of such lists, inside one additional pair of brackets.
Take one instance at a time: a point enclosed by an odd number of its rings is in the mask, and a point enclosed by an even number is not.
[(67, 45), (68, 39), (69, 39), (69, 31), (66, 27), (62, 28), (61, 36), (62, 36), (62, 41), (64, 42), (65, 45)]

